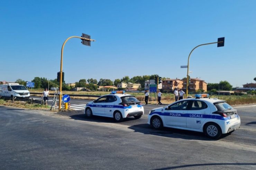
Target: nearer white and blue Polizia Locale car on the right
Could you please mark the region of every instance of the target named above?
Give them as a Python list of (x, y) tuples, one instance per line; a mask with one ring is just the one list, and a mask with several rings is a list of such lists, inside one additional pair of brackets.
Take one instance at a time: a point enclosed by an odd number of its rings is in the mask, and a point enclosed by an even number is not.
[(224, 100), (190, 98), (166, 107), (150, 110), (148, 124), (155, 129), (164, 127), (204, 132), (217, 139), (222, 134), (240, 128), (237, 110)]

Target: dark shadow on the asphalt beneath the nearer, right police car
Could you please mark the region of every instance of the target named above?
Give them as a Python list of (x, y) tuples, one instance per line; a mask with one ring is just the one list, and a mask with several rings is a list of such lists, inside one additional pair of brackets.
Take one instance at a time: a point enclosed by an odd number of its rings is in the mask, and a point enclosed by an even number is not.
[[(180, 138), (180, 139), (186, 139), (186, 140), (204, 140), (204, 141), (216, 140), (216, 139), (207, 138), (202, 132), (166, 128), (166, 127), (164, 127), (162, 130), (155, 130), (149, 124), (137, 124), (134, 126), (130, 126), (129, 129), (134, 130), (134, 132), (140, 132), (144, 134), (151, 134), (151, 135), (168, 137), (168, 138)], [(225, 135), (223, 135), (221, 138), (224, 138), (224, 137)]]

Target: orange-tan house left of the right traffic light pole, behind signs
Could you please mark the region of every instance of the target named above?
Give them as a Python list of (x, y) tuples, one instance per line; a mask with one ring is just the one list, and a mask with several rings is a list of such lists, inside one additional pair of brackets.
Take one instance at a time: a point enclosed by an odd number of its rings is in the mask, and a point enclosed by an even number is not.
[(175, 88), (181, 89), (183, 80), (181, 79), (166, 79), (162, 80), (162, 90), (173, 92)]

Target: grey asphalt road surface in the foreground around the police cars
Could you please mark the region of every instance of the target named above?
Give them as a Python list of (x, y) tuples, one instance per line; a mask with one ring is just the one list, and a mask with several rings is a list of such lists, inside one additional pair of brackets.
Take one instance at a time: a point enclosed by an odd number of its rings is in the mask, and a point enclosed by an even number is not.
[(198, 132), (0, 107), (0, 169), (256, 169), (256, 106), (238, 107), (241, 128), (220, 140)]

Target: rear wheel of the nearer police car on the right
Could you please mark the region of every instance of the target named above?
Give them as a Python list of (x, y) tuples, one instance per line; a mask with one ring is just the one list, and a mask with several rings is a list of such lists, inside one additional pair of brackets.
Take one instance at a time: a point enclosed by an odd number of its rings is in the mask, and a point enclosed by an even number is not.
[(221, 129), (216, 123), (208, 123), (204, 127), (204, 133), (207, 137), (212, 139), (218, 139), (222, 135)]

